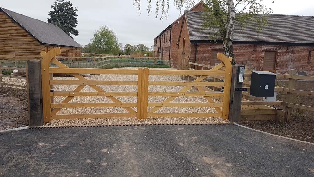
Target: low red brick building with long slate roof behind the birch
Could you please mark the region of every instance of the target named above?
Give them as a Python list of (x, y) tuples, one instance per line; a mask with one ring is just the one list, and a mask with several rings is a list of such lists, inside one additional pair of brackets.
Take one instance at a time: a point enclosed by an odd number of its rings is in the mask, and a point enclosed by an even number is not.
[[(203, 12), (185, 11), (177, 41), (178, 69), (188, 61), (215, 65), (223, 53), (220, 36), (202, 28)], [(236, 24), (234, 54), (237, 64), (254, 70), (288, 73), (290, 69), (314, 75), (314, 17), (266, 15), (268, 26), (260, 32), (253, 25)]]

